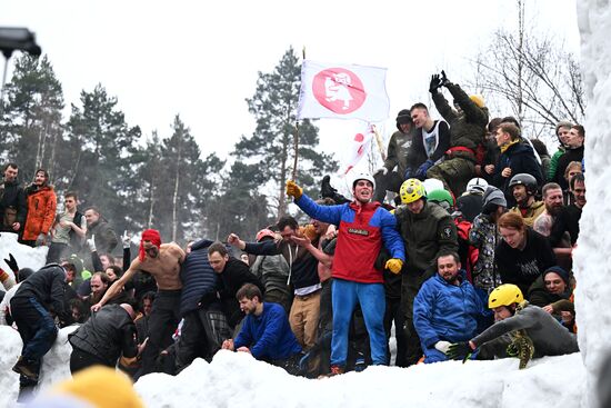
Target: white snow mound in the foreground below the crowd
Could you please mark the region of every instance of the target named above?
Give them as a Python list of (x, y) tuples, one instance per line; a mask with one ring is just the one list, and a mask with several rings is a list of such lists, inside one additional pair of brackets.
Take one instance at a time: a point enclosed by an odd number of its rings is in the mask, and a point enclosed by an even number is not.
[(149, 407), (578, 407), (584, 370), (579, 354), (549, 357), (518, 369), (517, 359), (449, 361), (409, 369), (370, 367), (363, 372), (309, 380), (220, 351), (198, 359), (177, 377), (142, 377), (136, 390)]

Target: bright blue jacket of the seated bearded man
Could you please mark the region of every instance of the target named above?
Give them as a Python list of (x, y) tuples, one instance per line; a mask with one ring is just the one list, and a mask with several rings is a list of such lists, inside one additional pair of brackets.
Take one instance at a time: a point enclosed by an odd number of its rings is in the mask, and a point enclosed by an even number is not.
[(413, 301), (413, 326), (423, 348), (432, 348), (440, 340), (465, 341), (477, 334), (483, 303), (464, 270), (460, 279), (454, 286), (435, 273), (420, 288)]

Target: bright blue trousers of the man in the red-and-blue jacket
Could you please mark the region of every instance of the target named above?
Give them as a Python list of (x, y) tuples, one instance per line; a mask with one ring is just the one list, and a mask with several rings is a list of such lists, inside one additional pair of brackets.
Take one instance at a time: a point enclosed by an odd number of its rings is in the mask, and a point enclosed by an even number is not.
[(385, 365), (387, 336), (384, 332), (384, 310), (387, 301), (383, 283), (359, 283), (343, 279), (333, 279), (331, 365), (345, 367), (348, 358), (348, 332), (357, 301), (361, 305), (364, 324), (369, 332), (371, 360), (373, 365)]

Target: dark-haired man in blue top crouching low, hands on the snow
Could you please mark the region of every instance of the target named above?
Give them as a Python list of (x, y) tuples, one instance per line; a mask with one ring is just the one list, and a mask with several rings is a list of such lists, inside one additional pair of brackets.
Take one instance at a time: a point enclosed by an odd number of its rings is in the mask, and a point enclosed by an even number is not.
[(297, 374), (302, 356), (301, 346), (291, 331), (284, 308), (278, 303), (263, 302), (261, 289), (253, 283), (242, 286), (236, 299), (247, 317), (236, 339), (224, 340), (222, 348), (249, 352), (258, 360)]

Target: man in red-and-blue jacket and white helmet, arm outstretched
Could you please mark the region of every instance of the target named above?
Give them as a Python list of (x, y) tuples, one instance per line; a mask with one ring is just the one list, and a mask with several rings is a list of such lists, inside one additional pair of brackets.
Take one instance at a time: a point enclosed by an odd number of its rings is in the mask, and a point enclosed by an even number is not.
[(385, 268), (398, 273), (405, 260), (405, 251), (394, 217), (379, 202), (371, 202), (373, 189), (373, 177), (359, 175), (352, 182), (352, 202), (319, 206), (303, 196), (294, 181), (287, 182), (287, 195), (294, 197), (294, 202), (303, 212), (313, 219), (339, 226), (332, 267), (331, 375), (342, 374), (345, 369), (348, 331), (357, 302), (361, 306), (369, 332), (371, 360), (373, 365), (387, 364), (383, 276), (373, 265), (384, 245), (391, 253)]

